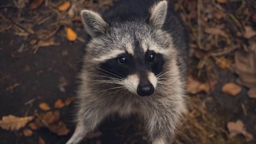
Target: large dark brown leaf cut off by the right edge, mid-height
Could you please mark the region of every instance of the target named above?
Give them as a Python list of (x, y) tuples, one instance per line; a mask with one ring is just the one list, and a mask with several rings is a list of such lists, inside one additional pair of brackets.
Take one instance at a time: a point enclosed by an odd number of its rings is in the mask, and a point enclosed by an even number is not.
[(249, 87), (249, 97), (256, 98), (256, 49), (235, 52), (235, 71), (239, 76), (237, 82)]

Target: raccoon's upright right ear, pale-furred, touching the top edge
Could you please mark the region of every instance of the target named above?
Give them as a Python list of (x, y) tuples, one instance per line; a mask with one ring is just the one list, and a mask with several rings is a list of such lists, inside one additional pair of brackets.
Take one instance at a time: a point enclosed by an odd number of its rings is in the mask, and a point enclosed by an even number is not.
[(149, 23), (155, 28), (162, 28), (167, 13), (167, 1), (156, 3), (150, 9)]

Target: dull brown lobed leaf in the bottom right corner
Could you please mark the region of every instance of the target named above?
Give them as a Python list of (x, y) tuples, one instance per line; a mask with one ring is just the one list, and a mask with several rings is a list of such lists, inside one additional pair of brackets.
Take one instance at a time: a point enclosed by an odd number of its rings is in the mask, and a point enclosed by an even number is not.
[(241, 120), (238, 119), (236, 122), (228, 122), (227, 127), (230, 138), (235, 137), (237, 134), (243, 134), (247, 142), (253, 140), (253, 135), (245, 130), (244, 124)]

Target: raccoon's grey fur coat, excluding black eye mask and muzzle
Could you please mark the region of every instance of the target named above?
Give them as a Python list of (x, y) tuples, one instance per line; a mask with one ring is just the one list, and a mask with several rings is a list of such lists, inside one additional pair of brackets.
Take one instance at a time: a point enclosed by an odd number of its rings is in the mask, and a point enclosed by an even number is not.
[[(99, 14), (94, 15), (97, 22), (91, 17), (95, 13), (82, 11), (85, 29), (92, 38), (86, 45), (84, 65), (79, 74), (81, 85), (77, 94), (77, 127), (67, 144), (79, 143), (87, 132), (93, 131), (103, 119), (115, 113), (120, 116), (138, 114), (153, 144), (171, 143), (174, 139), (175, 131), (187, 112), (184, 81), (186, 63), (178, 50), (185, 50), (186, 44), (179, 47), (174, 41), (177, 38), (173, 38), (172, 33), (162, 29), (167, 6), (166, 1), (158, 4), (149, 10), (156, 12), (149, 14), (149, 21), (135, 18), (112, 21), (110, 25), (99, 18)], [(88, 13), (93, 14), (88, 16)], [(88, 28), (90, 21), (85, 21), (88, 20), (87, 17), (94, 19), (93, 23), (97, 23), (97, 27)], [(102, 34), (95, 35), (94, 31), (100, 31)], [(166, 61), (162, 73), (155, 76), (155, 92), (149, 97), (139, 97), (131, 92), (124, 83), (125, 79), (106, 81), (107, 75), (102, 75), (99, 71), (101, 63), (110, 57), (115, 58), (118, 52), (135, 52), (134, 37), (140, 42), (143, 50), (157, 51)], [(107, 57), (104, 57), (105, 55)], [(121, 88), (115, 89), (118, 86)]]

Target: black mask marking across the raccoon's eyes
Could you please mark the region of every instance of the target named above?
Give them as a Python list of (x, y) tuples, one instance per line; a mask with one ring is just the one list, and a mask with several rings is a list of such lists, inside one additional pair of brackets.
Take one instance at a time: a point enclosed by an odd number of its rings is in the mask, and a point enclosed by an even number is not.
[[(154, 54), (154, 60), (151, 59), (151, 54)], [(100, 65), (100, 69), (102, 69), (100, 71), (105, 76), (118, 79), (124, 79), (138, 72), (140, 75), (145, 75), (147, 71), (152, 71), (155, 75), (158, 75), (163, 70), (164, 62), (163, 55), (154, 51), (147, 51), (145, 55), (124, 53), (103, 62)]]

